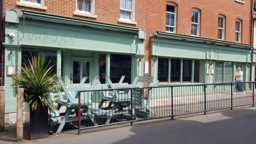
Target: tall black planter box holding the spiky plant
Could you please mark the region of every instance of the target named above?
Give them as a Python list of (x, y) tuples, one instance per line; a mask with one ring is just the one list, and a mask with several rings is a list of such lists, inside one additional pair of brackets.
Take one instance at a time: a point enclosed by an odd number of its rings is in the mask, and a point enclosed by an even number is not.
[(26, 111), (25, 139), (35, 140), (47, 138), (49, 133), (48, 107), (38, 106), (34, 111)]

